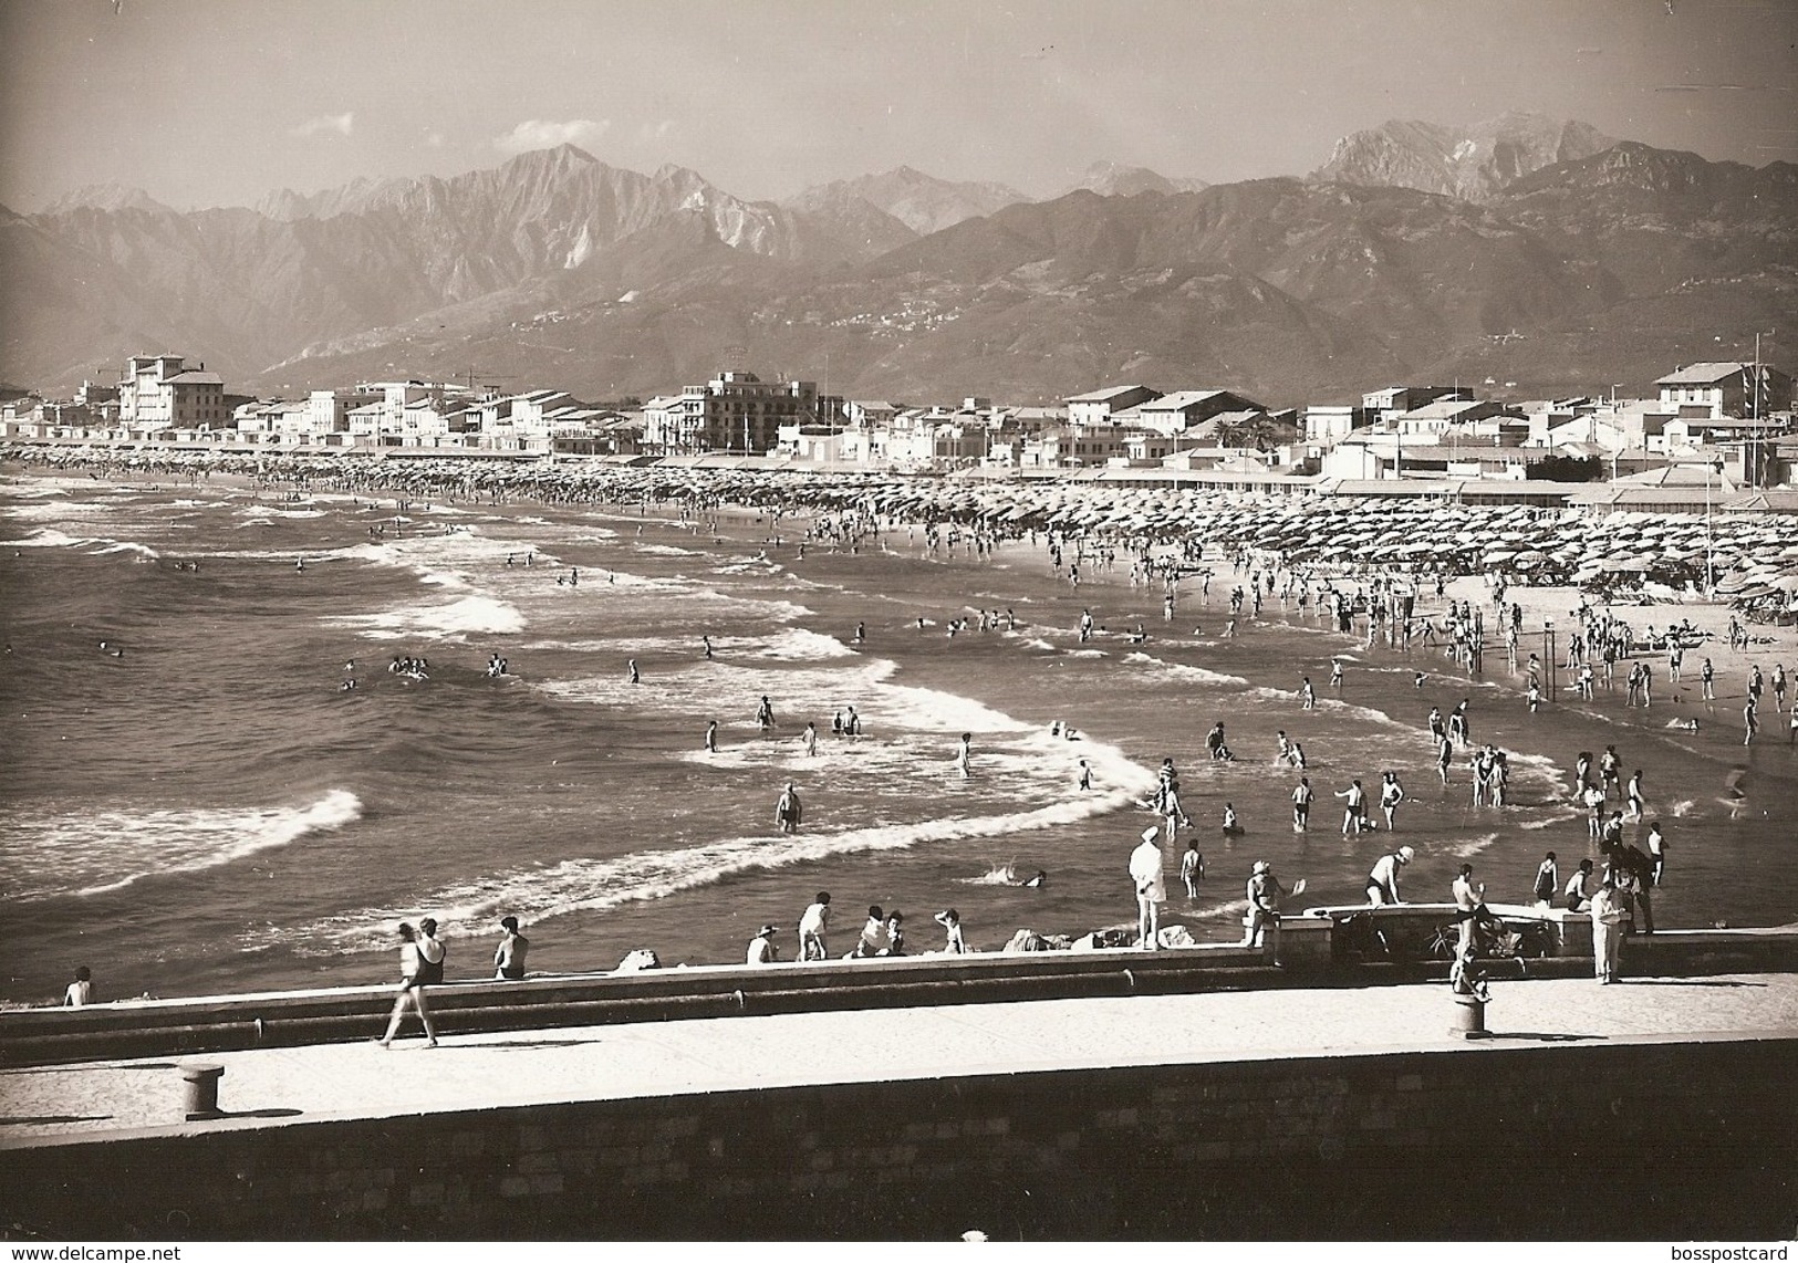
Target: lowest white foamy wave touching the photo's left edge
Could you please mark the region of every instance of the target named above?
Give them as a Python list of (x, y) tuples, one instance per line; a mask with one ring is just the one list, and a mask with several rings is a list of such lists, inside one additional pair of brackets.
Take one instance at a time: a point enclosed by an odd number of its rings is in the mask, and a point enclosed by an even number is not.
[(361, 799), (347, 789), (293, 807), (14, 814), (0, 828), (0, 871), (18, 882), (13, 898), (104, 895), (234, 864), (356, 819)]

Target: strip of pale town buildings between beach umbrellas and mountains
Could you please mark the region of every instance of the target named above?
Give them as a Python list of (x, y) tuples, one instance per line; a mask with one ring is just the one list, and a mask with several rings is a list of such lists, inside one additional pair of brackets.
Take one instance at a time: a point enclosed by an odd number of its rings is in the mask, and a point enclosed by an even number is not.
[[(1758, 350), (1758, 347), (1757, 347)], [(1106, 384), (1057, 406), (892, 402), (743, 368), (588, 402), (552, 386), (370, 381), (273, 399), (205, 363), (131, 356), (70, 399), (20, 393), (4, 438), (153, 453), (469, 456), (962, 474), (1102, 487), (1444, 494), (1643, 512), (1798, 512), (1791, 374), (1681, 365), (1625, 392), (1505, 401), (1464, 384), (1269, 404), (1208, 384)]]

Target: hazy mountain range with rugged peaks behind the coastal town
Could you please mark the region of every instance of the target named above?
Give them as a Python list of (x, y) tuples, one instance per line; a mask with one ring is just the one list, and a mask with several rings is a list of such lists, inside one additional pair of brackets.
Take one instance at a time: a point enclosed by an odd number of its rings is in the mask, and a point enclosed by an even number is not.
[(752, 201), (563, 146), (255, 208), (0, 208), (0, 379), (178, 352), (255, 392), (478, 372), (611, 399), (726, 359), (895, 401), (1643, 388), (1793, 309), (1794, 232), (1791, 163), (1534, 115), (1388, 122), (1307, 178), (1095, 163), (1046, 201), (910, 167)]

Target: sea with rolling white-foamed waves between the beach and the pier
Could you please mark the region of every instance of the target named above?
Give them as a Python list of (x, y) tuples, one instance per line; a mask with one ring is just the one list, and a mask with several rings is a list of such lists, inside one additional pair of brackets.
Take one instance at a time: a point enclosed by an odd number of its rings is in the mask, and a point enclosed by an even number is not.
[[(1408, 900), (1446, 900), (1471, 862), (1489, 900), (1527, 902), (1544, 850), (1562, 880), (1595, 853), (1571, 767), (1607, 744), (1669, 837), (1661, 927), (1798, 920), (1798, 756), (1780, 722), (1749, 749), (1739, 728), (1669, 729), (1708, 713), (1696, 684), (1649, 711), (1618, 683), (1532, 715), (1501, 658), (1469, 676), (1278, 598), (1224, 636), (1248, 577), (1217, 548), (1210, 593), (1183, 580), (1169, 618), (1160, 584), (1091, 546), (1075, 586), (1043, 537), (806, 534), (755, 508), (0, 478), (0, 1002), (56, 1002), (79, 965), (97, 999), (390, 981), (396, 927), (423, 916), (451, 979), (491, 976), (505, 914), (545, 972), (638, 949), (741, 963), (762, 923), (791, 958), (818, 891), (834, 956), (870, 905), (904, 913), (912, 952), (942, 945), (948, 907), (987, 952), (1019, 929), (1135, 927), (1127, 859), (1163, 758), (1194, 825), (1162, 923), (1197, 941), (1241, 936), (1260, 859), (1305, 880), (1289, 911), (1361, 902), (1397, 844), (1417, 850)], [(1717, 658), (1715, 710), (1735, 713), (1740, 672)], [(1462, 699), (1509, 755), (1503, 808), (1473, 805), (1465, 762), (1437, 778), (1424, 719)], [(850, 706), (861, 733), (834, 735)], [(1219, 720), (1233, 762), (1206, 758)], [(1304, 834), (1280, 731), (1318, 794)], [(1377, 798), (1384, 771), (1408, 792), (1395, 834), (1341, 835), (1332, 794), (1361, 778)], [(795, 834), (775, 825), (788, 783)], [(1197, 898), (1176, 877), (1188, 835)]]

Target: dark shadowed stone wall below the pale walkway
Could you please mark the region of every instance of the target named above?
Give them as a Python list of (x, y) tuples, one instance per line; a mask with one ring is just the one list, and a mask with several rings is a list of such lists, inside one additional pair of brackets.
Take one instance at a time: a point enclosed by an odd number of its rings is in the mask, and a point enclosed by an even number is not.
[(1794, 1053), (1544, 1037), (56, 1139), (0, 1188), (85, 1240), (1773, 1240)]

